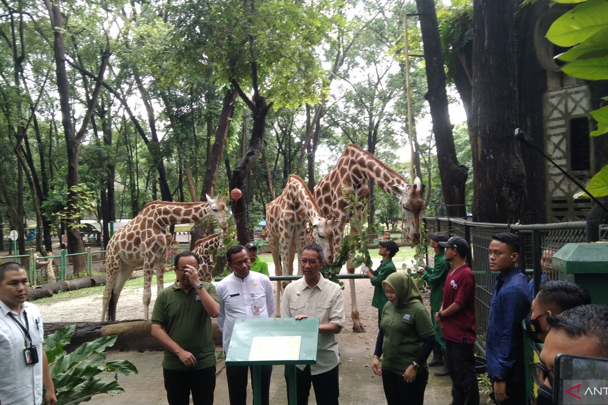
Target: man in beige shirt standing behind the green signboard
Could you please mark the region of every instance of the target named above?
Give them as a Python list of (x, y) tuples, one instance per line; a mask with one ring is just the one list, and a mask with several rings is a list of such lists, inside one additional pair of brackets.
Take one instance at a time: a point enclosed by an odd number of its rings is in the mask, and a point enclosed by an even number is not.
[(283, 293), (283, 318), (319, 318), (317, 364), (296, 367), (297, 405), (308, 405), (311, 384), (317, 405), (337, 405), (340, 396), (337, 333), (340, 333), (344, 324), (344, 298), (340, 286), (321, 275), (324, 258), (322, 247), (316, 243), (306, 245), (300, 254), (304, 277), (288, 284)]

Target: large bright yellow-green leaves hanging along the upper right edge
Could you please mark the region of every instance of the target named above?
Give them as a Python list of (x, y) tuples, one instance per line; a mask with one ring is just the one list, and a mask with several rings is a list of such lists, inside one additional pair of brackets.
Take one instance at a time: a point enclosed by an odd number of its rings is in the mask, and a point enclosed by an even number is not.
[[(608, 2), (605, 0), (554, 0), (561, 3), (580, 3), (556, 19), (547, 32), (552, 43), (571, 49), (556, 56), (567, 62), (562, 72), (585, 80), (608, 79)], [(608, 106), (590, 114), (598, 121), (592, 136), (608, 132)], [(608, 166), (595, 174), (587, 186), (595, 197), (608, 195)], [(586, 196), (584, 193), (579, 195)], [(588, 197), (588, 196), (587, 196)]]

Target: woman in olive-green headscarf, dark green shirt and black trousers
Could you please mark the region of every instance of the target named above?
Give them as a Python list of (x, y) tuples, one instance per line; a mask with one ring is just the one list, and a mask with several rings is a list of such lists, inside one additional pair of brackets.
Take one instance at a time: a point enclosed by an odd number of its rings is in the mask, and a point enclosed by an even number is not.
[(388, 405), (423, 405), (429, 379), (426, 359), (435, 345), (433, 324), (407, 273), (390, 274), (382, 285), (389, 302), (382, 310), (371, 369), (382, 376)]

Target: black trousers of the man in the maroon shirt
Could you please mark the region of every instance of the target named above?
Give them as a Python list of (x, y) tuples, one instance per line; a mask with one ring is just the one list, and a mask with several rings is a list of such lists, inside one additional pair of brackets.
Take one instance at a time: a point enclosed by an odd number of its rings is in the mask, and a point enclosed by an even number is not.
[(452, 404), (479, 405), (473, 344), (446, 340), (445, 364), (452, 378)]

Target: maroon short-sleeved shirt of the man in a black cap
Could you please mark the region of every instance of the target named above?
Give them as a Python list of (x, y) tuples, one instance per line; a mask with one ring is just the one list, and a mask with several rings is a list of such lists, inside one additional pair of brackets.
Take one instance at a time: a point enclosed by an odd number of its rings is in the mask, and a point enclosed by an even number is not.
[(443, 287), (443, 304), (445, 310), (454, 302), (463, 308), (443, 321), (443, 338), (455, 343), (475, 342), (475, 276), (468, 265), (450, 269), (447, 272), (446, 285)]

